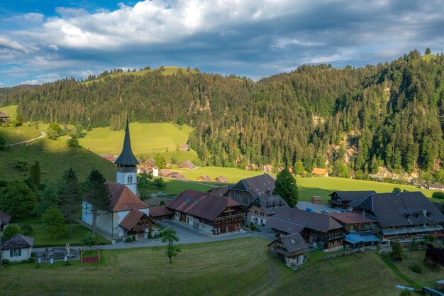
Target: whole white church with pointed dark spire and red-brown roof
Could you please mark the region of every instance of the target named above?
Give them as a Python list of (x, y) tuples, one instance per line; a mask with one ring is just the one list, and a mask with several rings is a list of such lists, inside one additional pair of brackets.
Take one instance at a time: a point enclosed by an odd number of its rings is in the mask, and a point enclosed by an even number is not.
[[(117, 182), (106, 181), (111, 192), (108, 210), (96, 216), (96, 228), (104, 231), (111, 238), (136, 236), (143, 238), (153, 222), (150, 219), (150, 206), (137, 196), (138, 160), (131, 150), (130, 128), (126, 121), (125, 139), (121, 155), (118, 156)], [(91, 204), (82, 202), (82, 220), (92, 225)]]

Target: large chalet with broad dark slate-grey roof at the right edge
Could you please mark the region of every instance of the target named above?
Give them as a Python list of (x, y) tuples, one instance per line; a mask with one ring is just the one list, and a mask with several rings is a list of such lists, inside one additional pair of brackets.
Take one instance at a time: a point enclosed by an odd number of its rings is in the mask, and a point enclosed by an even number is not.
[(374, 193), (358, 202), (354, 212), (377, 219), (382, 243), (411, 241), (443, 231), (444, 215), (422, 192)]

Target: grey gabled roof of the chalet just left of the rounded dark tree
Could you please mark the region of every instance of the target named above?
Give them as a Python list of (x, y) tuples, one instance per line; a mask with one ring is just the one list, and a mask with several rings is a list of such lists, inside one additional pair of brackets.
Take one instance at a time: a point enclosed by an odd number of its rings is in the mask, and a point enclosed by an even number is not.
[(257, 198), (272, 194), (274, 183), (275, 181), (270, 175), (263, 174), (240, 180), (230, 190), (247, 191), (252, 197)]

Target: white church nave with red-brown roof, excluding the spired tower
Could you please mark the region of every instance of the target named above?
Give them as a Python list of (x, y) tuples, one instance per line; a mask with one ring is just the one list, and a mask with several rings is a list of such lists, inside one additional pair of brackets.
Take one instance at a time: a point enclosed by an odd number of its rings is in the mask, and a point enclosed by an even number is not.
[[(150, 206), (142, 202), (125, 185), (111, 181), (106, 181), (106, 185), (111, 192), (111, 204), (107, 211), (96, 217), (96, 227), (111, 237), (133, 234), (143, 237), (145, 229), (148, 230), (152, 226), (152, 223), (147, 219), (150, 214)], [(82, 204), (82, 220), (92, 225), (91, 204), (86, 201), (83, 201)], [(130, 226), (133, 227), (129, 229)]]

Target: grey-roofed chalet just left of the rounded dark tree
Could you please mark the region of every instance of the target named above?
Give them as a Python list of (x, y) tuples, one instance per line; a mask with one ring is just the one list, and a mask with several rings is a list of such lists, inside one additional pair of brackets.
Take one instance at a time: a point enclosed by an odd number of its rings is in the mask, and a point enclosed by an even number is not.
[(248, 207), (257, 197), (270, 196), (274, 190), (274, 182), (268, 174), (249, 177), (233, 185), (225, 196)]

